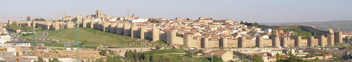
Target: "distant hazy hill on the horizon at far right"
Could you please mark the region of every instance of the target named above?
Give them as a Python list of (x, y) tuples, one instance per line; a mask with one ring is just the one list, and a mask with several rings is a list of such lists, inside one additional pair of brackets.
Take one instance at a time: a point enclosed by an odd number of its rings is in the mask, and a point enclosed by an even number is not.
[(340, 31), (352, 31), (352, 20), (334, 20), (334, 21), (317, 21), (317, 22), (286, 22), (286, 23), (260, 23), (263, 25), (281, 25), (287, 26), (292, 25), (306, 25), (306, 26), (315, 26), (315, 28), (326, 30), (334, 29), (337, 31), (340, 28)]

